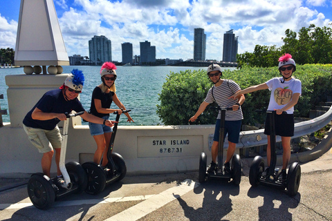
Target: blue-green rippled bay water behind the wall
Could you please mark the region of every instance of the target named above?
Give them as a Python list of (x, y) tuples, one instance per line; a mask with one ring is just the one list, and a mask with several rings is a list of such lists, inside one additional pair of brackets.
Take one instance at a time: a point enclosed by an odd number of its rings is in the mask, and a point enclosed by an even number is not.
[[(100, 66), (62, 66), (63, 73), (71, 73), (71, 70), (77, 68), (82, 70), (85, 77), (85, 83), (80, 94), (80, 101), (86, 111), (89, 111), (91, 104), (91, 96), (95, 86), (101, 84)], [(127, 117), (120, 117), (119, 125), (162, 125), (161, 119), (156, 114), (158, 94), (161, 92), (167, 75), (171, 72), (180, 73), (185, 70), (206, 70), (205, 67), (180, 67), (180, 66), (118, 66), (116, 73), (116, 95), (120, 102), (127, 109), (131, 109), (129, 113), (134, 123), (127, 122)], [(230, 68), (234, 69), (234, 68)], [(23, 68), (0, 68), (0, 99), (1, 109), (7, 109), (8, 115), (2, 115), (3, 122), (10, 122), (7, 89), (5, 82), (6, 75), (24, 75)], [(60, 85), (59, 85), (60, 86)], [(35, 104), (31, 104), (33, 108)], [(117, 109), (118, 106), (112, 103), (111, 108)], [(111, 120), (115, 116), (110, 117)], [(87, 124), (82, 122), (82, 124)]]

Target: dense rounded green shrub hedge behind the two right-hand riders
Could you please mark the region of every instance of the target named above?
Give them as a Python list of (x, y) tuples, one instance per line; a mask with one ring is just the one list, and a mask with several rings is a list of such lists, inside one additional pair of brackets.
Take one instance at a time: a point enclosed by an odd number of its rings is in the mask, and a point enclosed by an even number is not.
[[(302, 81), (302, 96), (295, 105), (295, 117), (308, 117), (311, 109), (315, 109), (320, 102), (326, 102), (327, 96), (332, 95), (331, 75), (331, 64), (297, 66), (293, 76)], [(262, 84), (273, 77), (279, 77), (277, 67), (244, 66), (240, 70), (223, 71), (224, 79), (234, 80), (242, 89)], [(211, 87), (205, 70), (170, 73), (159, 94), (158, 116), (166, 125), (189, 124), (188, 120), (196, 113)], [(268, 108), (270, 90), (259, 90), (245, 96), (246, 102), (242, 105), (243, 124), (264, 124), (265, 115), (255, 110)], [(215, 121), (216, 111), (207, 108), (194, 124), (214, 124)]]

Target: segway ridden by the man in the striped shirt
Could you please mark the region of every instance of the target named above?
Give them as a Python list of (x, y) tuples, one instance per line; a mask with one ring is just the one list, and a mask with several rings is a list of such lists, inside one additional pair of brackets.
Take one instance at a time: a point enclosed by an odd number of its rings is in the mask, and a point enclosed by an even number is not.
[(225, 114), (226, 111), (232, 111), (232, 108), (217, 108), (221, 111), (221, 124), (219, 130), (219, 146), (218, 146), (218, 162), (217, 169), (213, 173), (208, 172), (206, 166), (207, 156), (204, 152), (201, 153), (199, 159), (199, 182), (203, 183), (205, 180), (216, 179), (232, 182), (235, 185), (239, 185), (241, 182), (241, 159), (238, 154), (234, 154), (231, 162), (231, 173), (224, 173), (223, 171), (223, 142), (224, 142), (224, 133), (225, 133)]

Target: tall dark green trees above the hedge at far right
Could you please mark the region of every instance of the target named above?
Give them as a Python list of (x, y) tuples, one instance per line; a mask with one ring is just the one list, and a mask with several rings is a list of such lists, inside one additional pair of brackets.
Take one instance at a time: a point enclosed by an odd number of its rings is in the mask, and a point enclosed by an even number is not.
[(255, 46), (254, 52), (237, 55), (239, 68), (248, 65), (256, 67), (273, 67), (284, 53), (293, 56), (296, 64), (331, 64), (332, 63), (332, 29), (320, 28), (311, 24), (301, 28), (298, 33), (287, 29), (282, 38), (284, 45)]

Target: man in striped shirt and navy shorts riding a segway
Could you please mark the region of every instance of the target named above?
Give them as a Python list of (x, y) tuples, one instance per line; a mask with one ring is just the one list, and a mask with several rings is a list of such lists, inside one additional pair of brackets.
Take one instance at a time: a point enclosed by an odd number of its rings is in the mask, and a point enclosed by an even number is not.
[[(226, 155), (226, 160), (224, 162), (225, 173), (231, 173), (230, 171), (230, 160), (234, 155), (235, 148), (239, 142), (239, 134), (241, 130), (241, 123), (243, 119), (243, 114), (241, 110), (241, 105), (243, 104), (245, 97), (240, 95), (237, 97), (237, 100), (228, 99), (228, 97), (237, 93), (241, 90), (239, 85), (232, 80), (221, 79), (223, 75), (221, 67), (218, 64), (212, 64), (208, 67), (208, 77), (210, 81), (214, 84), (212, 88), (208, 91), (205, 100), (199, 106), (199, 110), (194, 116), (192, 116), (189, 121), (194, 122), (205, 108), (216, 102), (221, 108), (232, 107), (232, 111), (226, 111), (225, 115), (225, 135), (228, 134), (228, 150)], [(218, 117), (216, 118), (216, 128), (214, 130), (213, 144), (211, 148), (212, 162), (209, 166), (208, 172), (214, 173), (216, 170), (216, 157), (218, 155), (218, 146), (219, 146), (219, 128), (221, 123), (221, 112), (219, 111)], [(219, 162), (221, 163), (221, 162)]]

